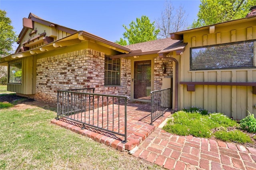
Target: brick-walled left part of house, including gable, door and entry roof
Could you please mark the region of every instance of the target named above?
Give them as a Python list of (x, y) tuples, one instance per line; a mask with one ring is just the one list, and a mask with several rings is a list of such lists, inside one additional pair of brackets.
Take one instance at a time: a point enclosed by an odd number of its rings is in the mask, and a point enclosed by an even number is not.
[(182, 44), (168, 38), (124, 47), (31, 13), (23, 18), (23, 26), (16, 53), (0, 60), (8, 66), (7, 89), (51, 103), (57, 102), (58, 89), (84, 87), (150, 101), (150, 91), (161, 89), (162, 78), (171, 80), (173, 75), (172, 60), (160, 58), (158, 52)]

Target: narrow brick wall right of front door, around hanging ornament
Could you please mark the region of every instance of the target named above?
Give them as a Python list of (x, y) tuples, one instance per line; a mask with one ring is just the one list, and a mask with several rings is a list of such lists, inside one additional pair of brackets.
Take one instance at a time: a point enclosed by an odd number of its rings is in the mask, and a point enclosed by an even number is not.
[[(166, 64), (166, 73), (163, 73), (162, 64)], [(173, 61), (171, 59), (154, 58), (154, 90), (162, 87), (162, 78), (170, 77), (173, 74)]]

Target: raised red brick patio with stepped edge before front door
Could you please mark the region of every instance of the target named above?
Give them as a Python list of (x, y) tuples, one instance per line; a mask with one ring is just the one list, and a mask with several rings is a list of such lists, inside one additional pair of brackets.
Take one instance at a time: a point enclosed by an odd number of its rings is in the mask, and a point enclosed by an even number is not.
[[(111, 107), (111, 105), (109, 105)], [(123, 109), (124, 106), (120, 106)], [(107, 107), (103, 108), (104, 110)], [(109, 108), (110, 109), (110, 108)], [(110, 109), (111, 110), (111, 109)], [(105, 132), (103, 130), (98, 130), (96, 128), (85, 126), (82, 128), (82, 124), (70, 121), (66, 118), (61, 118), (59, 120), (53, 119), (51, 123), (65, 127), (69, 130), (88, 136), (97, 142), (106, 144), (120, 151), (132, 150), (135, 146), (142, 143), (143, 140), (148, 137), (165, 119), (170, 115), (170, 111), (164, 113), (163, 117), (159, 117), (150, 125), (151, 122), (151, 104), (150, 103), (127, 103), (127, 142), (122, 143), (124, 140), (123, 136), (111, 134), (110, 132)], [(106, 118), (103, 118), (106, 119)], [(124, 120), (120, 119), (120, 125), (124, 125)], [(110, 127), (111, 128), (111, 127)], [(121, 129), (124, 129), (122, 127)]]

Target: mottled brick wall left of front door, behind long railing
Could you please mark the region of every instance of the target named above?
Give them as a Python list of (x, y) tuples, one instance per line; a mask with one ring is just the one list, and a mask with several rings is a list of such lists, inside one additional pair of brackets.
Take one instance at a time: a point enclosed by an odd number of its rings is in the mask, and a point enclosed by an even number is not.
[(130, 96), (131, 62), (121, 59), (121, 85), (104, 86), (104, 53), (83, 49), (37, 60), (36, 95), (57, 102), (58, 89), (94, 87), (95, 93)]

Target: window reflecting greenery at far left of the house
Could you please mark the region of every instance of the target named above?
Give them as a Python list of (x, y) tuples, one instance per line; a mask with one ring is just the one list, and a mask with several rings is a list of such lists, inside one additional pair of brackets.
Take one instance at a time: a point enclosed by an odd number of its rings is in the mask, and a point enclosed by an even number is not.
[(9, 65), (9, 83), (21, 83), (21, 62)]

